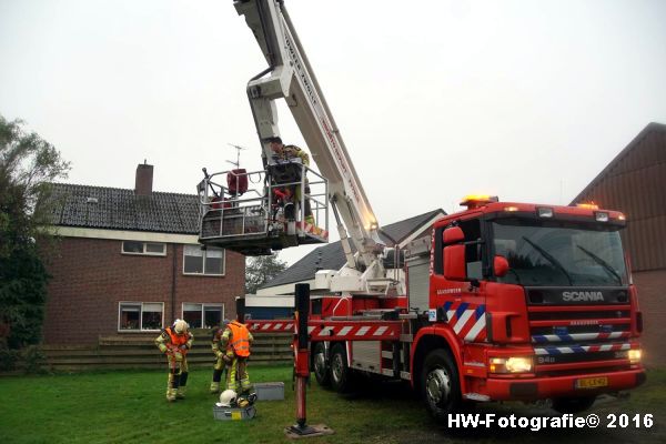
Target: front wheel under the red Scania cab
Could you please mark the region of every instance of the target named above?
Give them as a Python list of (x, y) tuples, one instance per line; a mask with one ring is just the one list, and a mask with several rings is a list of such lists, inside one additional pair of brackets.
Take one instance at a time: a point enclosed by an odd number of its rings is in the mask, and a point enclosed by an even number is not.
[(435, 420), (445, 422), (447, 415), (461, 407), (461, 386), (453, 357), (444, 350), (434, 350), (423, 363), (421, 394)]

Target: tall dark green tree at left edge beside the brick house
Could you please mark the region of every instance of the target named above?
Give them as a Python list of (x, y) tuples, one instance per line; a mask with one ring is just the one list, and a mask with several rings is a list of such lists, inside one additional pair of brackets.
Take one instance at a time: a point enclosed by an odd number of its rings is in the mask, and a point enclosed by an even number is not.
[(0, 115), (0, 341), (6, 336), (0, 346), (6, 352), (41, 339), (49, 274), (38, 248), (44, 238), (40, 226), (49, 222), (50, 182), (67, 178), (70, 168), (52, 144), (22, 127)]

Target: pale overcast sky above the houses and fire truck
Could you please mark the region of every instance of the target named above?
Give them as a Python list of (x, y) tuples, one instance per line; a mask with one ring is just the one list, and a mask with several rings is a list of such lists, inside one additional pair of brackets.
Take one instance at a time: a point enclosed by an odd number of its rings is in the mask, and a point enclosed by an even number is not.
[[(666, 123), (666, 1), (285, 4), (381, 224), (478, 192), (566, 204)], [(0, 114), (70, 183), (131, 189), (147, 160), (157, 191), (194, 193), (229, 143), (259, 169), (245, 84), (265, 67), (231, 0), (0, 0)]]

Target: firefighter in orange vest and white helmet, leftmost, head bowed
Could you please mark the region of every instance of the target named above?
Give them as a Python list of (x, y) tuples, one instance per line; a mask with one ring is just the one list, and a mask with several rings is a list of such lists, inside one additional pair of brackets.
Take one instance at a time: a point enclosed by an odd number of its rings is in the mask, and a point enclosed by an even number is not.
[(173, 402), (185, 397), (188, 384), (188, 351), (192, 347), (194, 336), (190, 325), (183, 320), (175, 320), (173, 325), (162, 330), (155, 339), (160, 352), (169, 362), (169, 380), (167, 383), (167, 401)]

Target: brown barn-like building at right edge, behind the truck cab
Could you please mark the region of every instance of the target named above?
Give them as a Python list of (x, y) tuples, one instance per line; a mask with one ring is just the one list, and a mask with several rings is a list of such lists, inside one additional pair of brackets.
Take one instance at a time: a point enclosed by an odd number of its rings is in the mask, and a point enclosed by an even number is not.
[(627, 215), (623, 242), (629, 253), (643, 312), (644, 361), (666, 364), (662, 329), (666, 325), (666, 124), (649, 123), (573, 200), (594, 201)]

